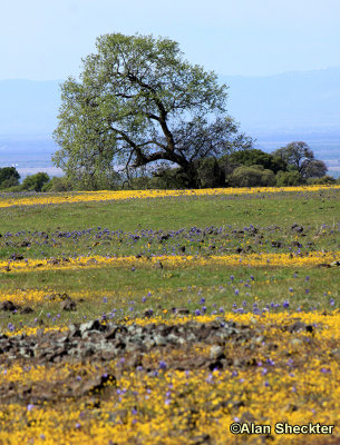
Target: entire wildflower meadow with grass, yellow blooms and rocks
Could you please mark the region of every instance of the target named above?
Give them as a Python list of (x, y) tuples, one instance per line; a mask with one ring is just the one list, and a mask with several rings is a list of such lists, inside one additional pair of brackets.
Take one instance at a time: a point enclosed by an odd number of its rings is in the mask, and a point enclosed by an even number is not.
[(0, 444), (340, 443), (340, 186), (0, 215)]

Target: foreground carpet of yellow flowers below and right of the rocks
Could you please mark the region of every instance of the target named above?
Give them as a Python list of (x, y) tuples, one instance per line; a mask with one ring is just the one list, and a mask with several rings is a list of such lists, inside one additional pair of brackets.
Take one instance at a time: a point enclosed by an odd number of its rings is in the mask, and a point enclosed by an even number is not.
[[(40, 380), (60, 385), (67, 377), (110, 372), (116, 382), (106, 396), (90, 399), (60, 399), (47, 403), (0, 406), (0, 443), (25, 444), (262, 444), (263, 436), (232, 435), (230, 425), (247, 422), (270, 425), (270, 443), (321, 444), (340, 442), (340, 373), (337, 350), (340, 314), (226, 314), (226, 319), (263, 326), (259, 348), (250, 352), (254, 366), (234, 365), (223, 370), (176, 370), (157, 367), (172, 354), (152, 352), (148, 362), (156, 373), (119, 370), (120, 360), (110, 364), (68, 364), (23, 368), (0, 366), (2, 383), (38, 385)], [(318, 329), (291, 334), (285, 327), (299, 318)], [(202, 322), (207, 322), (201, 319)], [(182, 320), (181, 320), (182, 322)], [(312, 342), (314, 353), (310, 355)], [(268, 345), (275, 347), (268, 347)], [(246, 349), (243, 349), (243, 353)], [(201, 352), (202, 353), (202, 352)], [(204, 353), (204, 352), (203, 352)], [(237, 358), (232, 342), (224, 346), (227, 357)], [(99, 400), (99, 402), (98, 402)], [(334, 425), (332, 436), (278, 435), (274, 425), (309, 423)], [(201, 441), (201, 442), (200, 442)], [(330, 442), (328, 442), (330, 441)], [(333, 441), (333, 442), (331, 442)]]

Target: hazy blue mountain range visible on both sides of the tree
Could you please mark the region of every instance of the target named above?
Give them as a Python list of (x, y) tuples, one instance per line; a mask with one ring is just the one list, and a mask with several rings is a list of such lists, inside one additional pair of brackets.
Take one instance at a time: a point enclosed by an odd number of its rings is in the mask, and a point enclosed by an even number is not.
[[(230, 87), (230, 115), (260, 144), (299, 139), (340, 145), (340, 67), (218, 79)], [(51, 132), (57, 126), (61, 82), (0, 81), (1, 164), (23, 158), (50, 159), (57, 148)], [(338, 149), (332, 152), (332, 158), (340, 158)]]

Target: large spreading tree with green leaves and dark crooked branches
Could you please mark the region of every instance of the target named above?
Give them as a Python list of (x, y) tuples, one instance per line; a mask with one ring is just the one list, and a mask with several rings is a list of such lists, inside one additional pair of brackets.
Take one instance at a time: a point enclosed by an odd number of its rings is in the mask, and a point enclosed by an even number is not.
[(226, 87), (188, 63), (178, 43), (152, 36), (105, 34), (84, 60), (80, 80), (61, 85), (56, 166), (98, 187), (115, 165), (128, 172), (177, 165), (197, 187), (197, 160), (251, 147), (226, 115)]

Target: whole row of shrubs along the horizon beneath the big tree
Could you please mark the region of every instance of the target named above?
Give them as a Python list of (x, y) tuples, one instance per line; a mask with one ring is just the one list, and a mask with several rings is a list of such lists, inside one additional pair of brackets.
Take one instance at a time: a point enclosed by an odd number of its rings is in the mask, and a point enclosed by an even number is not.
[[(201, 188), (214, 187), (286, 187), (313, 184), (340, 184), (327, 176), (324, 162), (313, 158), (299, 169), (283, 158), (251, 149), (235, 151), (220, 159), (206, 158), (196, 162), (197, 182)], [(28, 176), (20, 184), (13, 167), (0, 168), (0, 190), (3, 191), (69, 191), (94, 189), (81, 180), (72, 184), (67, 177), (50, 178), (46, 172)], [(136, 172), (129, 179), (114, 172), (103, 179), (97, 189), (176, 189), (187, 188), (187, 178), (181, 168), (158, 167), (153, 172)]]

